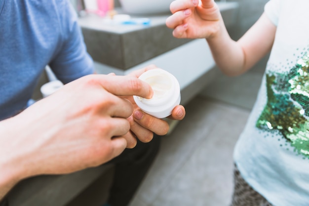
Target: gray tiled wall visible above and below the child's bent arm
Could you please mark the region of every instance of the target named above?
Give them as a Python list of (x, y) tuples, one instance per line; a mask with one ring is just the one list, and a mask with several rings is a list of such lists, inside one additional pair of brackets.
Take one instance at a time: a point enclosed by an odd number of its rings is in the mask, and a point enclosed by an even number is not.
[[(238, 23), (228, 29), (232, 39), (238, 40), (254, 24), (264, 11), (268, 0), (237, 0), (239, 2)], [(259, 61), (246, 74), (229, 78), (217, 74), (200, 93), (201, 96), (252, 109), (269, 55)]]

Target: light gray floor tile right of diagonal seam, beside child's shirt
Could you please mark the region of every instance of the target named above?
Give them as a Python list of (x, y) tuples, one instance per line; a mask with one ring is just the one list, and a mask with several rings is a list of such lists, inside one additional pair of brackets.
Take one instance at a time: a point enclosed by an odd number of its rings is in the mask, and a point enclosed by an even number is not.
[(212, 132), (174, 173), (153, 206), (228, 206), (232, 195), (233, 146), (249, 111), (225, 110)]

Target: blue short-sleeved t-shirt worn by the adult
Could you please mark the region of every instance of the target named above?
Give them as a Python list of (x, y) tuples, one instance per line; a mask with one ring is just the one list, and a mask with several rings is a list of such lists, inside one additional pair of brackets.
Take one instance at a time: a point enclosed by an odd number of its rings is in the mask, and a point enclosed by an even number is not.
[(67, 0), (0, 0), (0, 120), (24, 109), (49, 65), (63, 83), (93, 73)]

